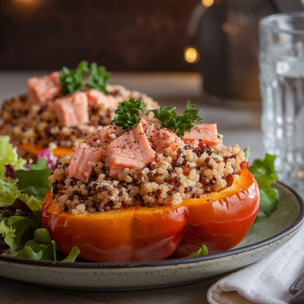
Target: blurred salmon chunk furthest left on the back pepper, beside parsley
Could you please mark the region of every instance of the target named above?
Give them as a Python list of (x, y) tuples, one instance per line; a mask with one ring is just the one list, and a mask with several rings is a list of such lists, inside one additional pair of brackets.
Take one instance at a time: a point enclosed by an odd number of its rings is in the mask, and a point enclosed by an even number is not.
[(58, 96), (61, 89), (59, 75), (59, 72), (54, 72), (39, 78), (29, 78), (27, 80), (29, 101), (35, 104), (44, 104)]

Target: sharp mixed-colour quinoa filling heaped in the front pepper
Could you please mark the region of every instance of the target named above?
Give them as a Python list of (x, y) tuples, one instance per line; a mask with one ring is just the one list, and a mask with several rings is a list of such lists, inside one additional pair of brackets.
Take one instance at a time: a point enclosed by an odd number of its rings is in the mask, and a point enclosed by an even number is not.
[[(153, 123), (159, 130), (159, 123)], [(150, 130), (146, 136), (150, 139)], [(209, 146), (200, 140), (186, 142), (184, 147), (166, 153), (157, 153), (138, 169), (124, 168), (116, 177), (110, 176), (110, 164), (99, 161), (92, 169), (88, 182), (68, 174), (74, 154), (61, 157), (49, 177), (54, 202), (72, 214), (104, 212), (135, 206), (179, 205), (182, 200), (200, 198), (203, 194), (219, 192), (239, 178), (241, 168), (247, 167), (247, 158), (236, 144), (223, 145), (223, 135), (217, 134), (219, 144)], [(108, 143), (103, 142), (106, 150)]]

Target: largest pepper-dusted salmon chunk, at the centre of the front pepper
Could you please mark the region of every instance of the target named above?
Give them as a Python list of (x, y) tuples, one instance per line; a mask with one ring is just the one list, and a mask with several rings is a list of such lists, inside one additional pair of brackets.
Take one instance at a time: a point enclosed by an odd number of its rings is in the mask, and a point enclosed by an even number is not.
[(155, 157), (141, 123), (113, 140), (107, 149), (106, 163), (110, 176), (116, 177), (125, 168), (143, 169)]

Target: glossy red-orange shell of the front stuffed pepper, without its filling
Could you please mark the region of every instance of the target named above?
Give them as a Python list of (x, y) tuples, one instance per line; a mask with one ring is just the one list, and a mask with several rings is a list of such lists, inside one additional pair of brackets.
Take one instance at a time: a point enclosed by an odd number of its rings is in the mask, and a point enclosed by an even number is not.
[(58, 209), (52, 194), (41, 210), (42, 226), (68, 254), (78, 246), (79, 257), (98, 262), (163, 260), (185, 257), (205, 244), (209, 253), (240, 243), (257, 216), (260, 192), (253, 175), (242, 169), (230, 187), (185, 199), (178, 206), (135, 207), (87, 215)]

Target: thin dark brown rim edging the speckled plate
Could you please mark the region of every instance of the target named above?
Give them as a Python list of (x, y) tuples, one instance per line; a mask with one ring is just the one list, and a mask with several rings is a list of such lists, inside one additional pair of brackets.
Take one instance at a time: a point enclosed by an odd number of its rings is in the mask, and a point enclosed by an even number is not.
[(289, 192), (294, 195), (300, 206), (300, 213), (297, 220), (288, 228), (282, 232), (266, 239), (261, 242), (257, 242), (248, 246), (231, 249), (224, 252), (214, 253), (210, 255), (205, 255), (201, 257), (188, 257), (188, 258), (179, 258), (179, 259), (170, 259), (170, 260), (161, 260), (161, 261), (148, 261), (148, 262), (127, 262), (127, 263), (99, 263), (99, 262), (60, 262), (60, 261), (41, 261), (41, 260), (30, 260), (20, 257), (9, 257), (5, 255), (0, 255), (0, 261), (6, 261), (9, 263), (16, 264), (26, 264), (33, 266), (46, 266), (46, 267), (58, 267), (58, 268), (88, 268), (88, 269), (100, 269), (100, 268), (130, 268), (130, 267), (158, 267), (158, 266), (169, 266), (169, 265), (178, 265), (186, 263), (196, 263), (200, 261), (208, 261), (212, 259), (218, 259), (222, 257), (227, 257), (234, 254), (244, 253), (246, 251), (254, 250), (265, 245), (271, 244), (277, 240), (282, 239), (293, 231), (297, 230), (304, 222), (304, 202), (301, 196), (292, 188), (285, 185), (284, 183), (277, 181), (277, 183), (282, 187), (287, 189)]

